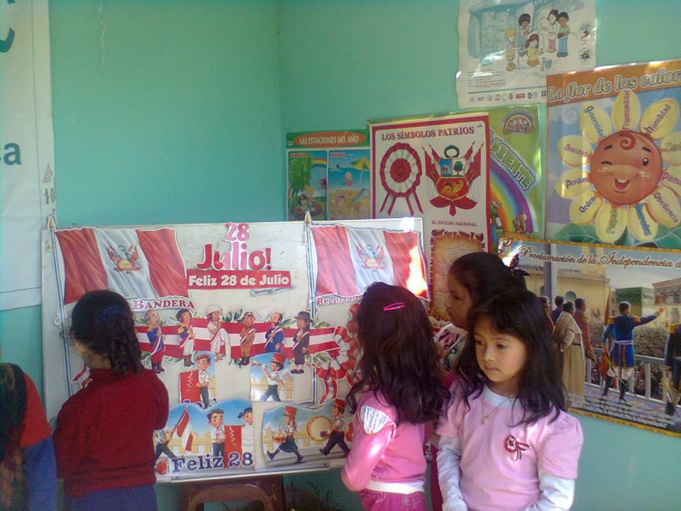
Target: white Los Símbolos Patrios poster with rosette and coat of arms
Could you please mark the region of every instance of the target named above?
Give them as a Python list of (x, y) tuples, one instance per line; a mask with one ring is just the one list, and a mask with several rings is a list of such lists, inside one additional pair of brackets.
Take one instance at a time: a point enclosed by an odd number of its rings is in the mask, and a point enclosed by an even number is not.
[(370, 123), (370, 131), (372, 216), (423, 219), (437, 309), (448, 265), (491, 246), (487, 114)]

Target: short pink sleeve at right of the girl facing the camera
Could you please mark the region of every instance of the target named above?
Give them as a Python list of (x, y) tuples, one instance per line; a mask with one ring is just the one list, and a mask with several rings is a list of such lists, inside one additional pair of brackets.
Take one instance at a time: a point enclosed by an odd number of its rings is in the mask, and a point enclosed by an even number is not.
[(580, 422), (570, 414), (561, 412), (558, 419), (546, 424), (546, 428), (548, 432), (537, 449), (539, 472), (564, 479), (577, 479), (577, 464), (584, 442)]

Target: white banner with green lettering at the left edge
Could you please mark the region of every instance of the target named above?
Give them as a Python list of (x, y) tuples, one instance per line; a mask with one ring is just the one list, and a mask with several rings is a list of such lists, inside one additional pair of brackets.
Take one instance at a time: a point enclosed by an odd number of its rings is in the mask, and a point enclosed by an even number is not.
[(0, 3), (0, 310), (40, 304), (40, 229), (55, 225), (48, 0)]

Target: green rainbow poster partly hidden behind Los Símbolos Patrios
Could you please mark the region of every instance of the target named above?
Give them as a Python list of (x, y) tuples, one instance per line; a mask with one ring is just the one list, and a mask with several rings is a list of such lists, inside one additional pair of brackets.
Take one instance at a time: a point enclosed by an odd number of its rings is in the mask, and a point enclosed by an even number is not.
[(544, 238), (544, 179), (537, 106), (489, 112), (489, 221), (499, 238)]

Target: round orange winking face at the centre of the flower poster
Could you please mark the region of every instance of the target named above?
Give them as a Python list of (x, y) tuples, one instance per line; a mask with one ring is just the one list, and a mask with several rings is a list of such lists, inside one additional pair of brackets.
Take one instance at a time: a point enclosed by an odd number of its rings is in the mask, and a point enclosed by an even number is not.
[(636, 131), (617, 131), (604, 138), (591, 159), (591, 182), (612, 204), (637, 204), (662, 177), (662, 155), (652, 138)]

